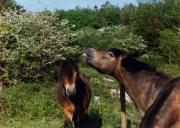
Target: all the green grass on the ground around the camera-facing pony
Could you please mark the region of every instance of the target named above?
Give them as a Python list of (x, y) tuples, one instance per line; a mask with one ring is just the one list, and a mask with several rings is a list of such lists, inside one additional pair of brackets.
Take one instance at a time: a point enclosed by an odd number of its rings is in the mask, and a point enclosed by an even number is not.
[[(112, 96), (109, 89), (119, 89), (118, 83), (105, 81), (107, 77), (95, 70), (82, 68), (91, 76), (93, 96), (89, 107), (90, 120), (102, 128), (120, 128), (119, 95)], [(0, 92), (4, 110), (0, 113), (0, 128), (60, 128), (64, 115), (56, 100), (57, 84), (18, 84)], [(99, 101), (94, 96), (100, 97)], [(127, 104), (129, 128), (137, 128), (140, 118), (132, 103)]]

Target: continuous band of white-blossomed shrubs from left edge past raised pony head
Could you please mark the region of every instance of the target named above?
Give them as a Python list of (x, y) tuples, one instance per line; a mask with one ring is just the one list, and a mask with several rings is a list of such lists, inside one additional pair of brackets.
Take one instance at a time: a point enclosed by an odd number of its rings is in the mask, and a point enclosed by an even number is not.
[(53, 12), (3, 12), (0, 15), (0, 81), (54, 79), (60, 61), (77, 59), (82, 47), (116, 47), (130, 52), (142, 52), (146, 48), (142, 37), (124, 26), (77, 32), (72, 27), (68, 20), (57, 22)]

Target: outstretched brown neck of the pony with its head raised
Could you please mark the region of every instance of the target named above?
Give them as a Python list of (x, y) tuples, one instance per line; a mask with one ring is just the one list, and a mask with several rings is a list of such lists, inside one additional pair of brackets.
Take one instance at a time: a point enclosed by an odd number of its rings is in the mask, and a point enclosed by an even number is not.
[[(139, 61), (135, 63), (140, 63), (140, 66), (142, 64)], [(129, 63), (128, 65), (136, 66)], [(161, 73), (158, 74), (156, 71), (146, 70), (146, 68), (131, 72), (122, 66), (122, 59), (120, 60), (120, 58), (112, 75), (121, 83), (121, 86), (124, 87), (125, 91), (135, 102), (141, 116), (152, 105), (165, 83), (169, 80), (168, 76)]]

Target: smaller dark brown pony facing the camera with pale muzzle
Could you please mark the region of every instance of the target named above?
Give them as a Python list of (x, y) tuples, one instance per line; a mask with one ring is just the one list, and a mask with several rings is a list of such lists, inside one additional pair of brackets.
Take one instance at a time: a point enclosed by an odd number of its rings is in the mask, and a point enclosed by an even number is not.
[(91, 99), (88, 79), (79, 72), (72, 61), (64, 61), (60, 67), (58, 100), (64, 109), (65, 128), (77, 128), (85, 119)]

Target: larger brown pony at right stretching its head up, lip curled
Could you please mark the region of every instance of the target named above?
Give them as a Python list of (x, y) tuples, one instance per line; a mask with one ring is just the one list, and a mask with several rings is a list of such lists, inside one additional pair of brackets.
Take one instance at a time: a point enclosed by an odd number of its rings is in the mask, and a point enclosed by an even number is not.
[(121, 83), (144, 117), (141, 128), (180, 128), (180, 78), (158, 72), (118, 49), (84, 49), (83, 57)]

